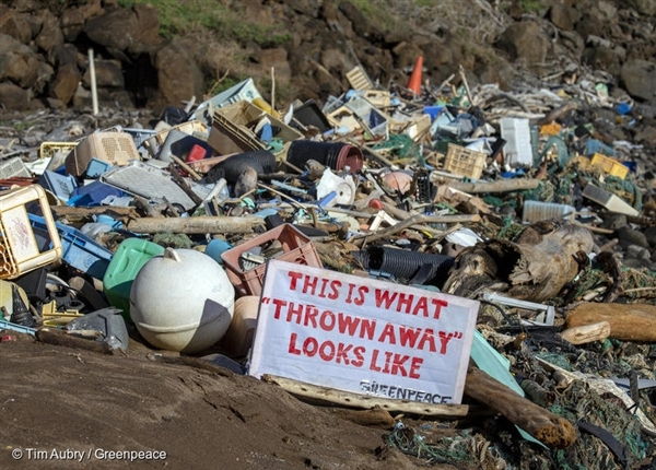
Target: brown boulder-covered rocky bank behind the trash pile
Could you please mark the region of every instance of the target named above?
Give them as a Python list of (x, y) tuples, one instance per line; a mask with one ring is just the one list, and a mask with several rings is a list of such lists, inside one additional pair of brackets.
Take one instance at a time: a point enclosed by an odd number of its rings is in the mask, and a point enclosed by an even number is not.
[[(222, 2), (244, 19), (284, 30), (288, 39), (270, 45), (229, 45), (206, 31), (165, 39), (159, 12), (147, 4), (69, 1), (58, 10), (52, 5), (61, 2), (4, 3), (0, 104), (7, 110), (87, 106), (90, 50), (106, 106), (179, 106), (211, 94), (226, 78), (253, 77), (266, 94), (271, 69), (280, 101), (325, 99), (349, 89), (345, 73), (358, 64), (384, 87), (405, 85), (419, 56), (424, 81), (433, 85), (460, 64), (470, 85), (499, 83), (506, 90), (527, 81), (576, 81), (595, 70), (611, 93), (656, 105), (655, 0), (543, 1), (530, 14), (502, 1), (441, 2), (407, 10), (412, 15), (399, 13), (401, 27), (394, 31), (376, 26), (349, 1)], [(244, 60), (227, 63), (235, 55)]]

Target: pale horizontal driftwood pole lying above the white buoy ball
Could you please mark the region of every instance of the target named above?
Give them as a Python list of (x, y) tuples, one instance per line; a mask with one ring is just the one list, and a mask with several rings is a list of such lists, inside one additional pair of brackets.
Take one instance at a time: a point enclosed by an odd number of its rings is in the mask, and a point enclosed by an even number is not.
[(136, 233), (184, 233), (184, 234), (249, 234), (256, 226), (265, 226), (265, 220), (256, 215), (243, 218), (140, 218), (128, 223), (127, 230)]

